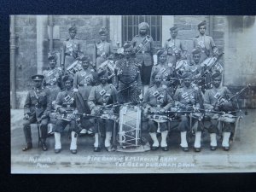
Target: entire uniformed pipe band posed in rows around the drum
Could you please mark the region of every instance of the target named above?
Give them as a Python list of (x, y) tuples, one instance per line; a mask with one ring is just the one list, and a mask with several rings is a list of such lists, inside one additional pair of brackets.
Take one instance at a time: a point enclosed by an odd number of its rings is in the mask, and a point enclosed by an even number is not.
[(206, 21), (198, 25), (199, 36), (194, 39), (191, 53), (183, 39), (177, 39), (177, 26), (170, 28), (171, 38), (161, 49), (155, 48), (148, 23), (140, 23), (138, 28), (139, 34), (117, 51), (107, 42), (108, 30), (102, 28), (101, 41), (95, 43), (96, 63), (81, 51), (79, 39), (75, 38), (77, 28), (69, 28), (70, 38), (63, 43), (61, 66), (56, 66), (56, 55), (49, 53), (49, 70), (32, 76), (35, 85), (24, 106), (23, 151), (32, 148), (34, 123), (39, 126), (44, 151), (48, 150), (46, 138), (50, 127), (55, 137), (55, 153), (61, 152), (61, 132), (67, 125), (72, 154), (77, 153), (82, 131), (94, 135), (95, 152), (101, 151), (102, 146), (112, 151), (113, 137), (119, 130), (119, 111), (125, 105), (142, 108), (151, 150), (169, 150), (166, 138), (172, 136), (172, 127), (180, 131), (179, 145), (185, 152), (189, 151), (187, 137), (191, 130), (195, 136), (191, 147), (195, 152), (201, 151), (202, 131), (209, 133), (211, 150), (218, 147), (219, 132), (221, 147), (230, 149), (237, 102), (222, 85), (220, 54), (212, 37), (206, 35)]

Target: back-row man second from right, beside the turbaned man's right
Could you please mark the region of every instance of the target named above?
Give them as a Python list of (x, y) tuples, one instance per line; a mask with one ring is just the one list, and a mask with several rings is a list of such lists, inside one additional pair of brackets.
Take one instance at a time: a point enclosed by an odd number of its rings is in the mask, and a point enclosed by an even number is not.
[(176, 58), (175, 54), (177, 52), (181, 52), (181, 59), (186, 59), (187, 49), (183, 45), (183, 42), (177, 38), (177, 31), (178, 31), (177, 26), (172, 26), (170, 28), (171, 38), (167, 39), (164, 45), (164, 48), (166, 49), (166, 51), (168, 49), (172, 49), (173, 58)]

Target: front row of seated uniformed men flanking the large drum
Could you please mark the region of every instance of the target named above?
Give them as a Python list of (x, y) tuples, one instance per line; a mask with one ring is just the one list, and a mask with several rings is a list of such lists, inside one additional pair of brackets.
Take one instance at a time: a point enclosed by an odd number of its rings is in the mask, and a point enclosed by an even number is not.
[[(215, 111), (232, 111), (236, 108), (236, 103), (228, 102), (224, 100), (221, 102), (218, 100), (218, 96), (223, 98), (228, 98), (230, 96), (230, 90), (226, 87), (221, 86), (221, 75), (214, 77), (213, 87), (210, 90), (207, 90), (205, 95), (202, 96), (201, 92), (195, 90), (191, 87), (191, 79), (193, 76), (191, 73), (186, 73), (183, 75), (183, 87), (178, 88), (175, 92), (175, 95), (170, 96), (167, 92), (166, 85), (162, 84), (163, 74), (156, 72), (153, 74), (152, 78), (154, 79), (154, 85), (150, 87), (145, 95), (143, 96), (143, 106), (144, 113), (164, 113), (164, 111), (169, 110), (171, 107), (177, 106), (183, 110), (191, 110), (192, 108), (208, 108)], [(32, 79), (36, 82), (35, 89), (30, 90), (25, 103), (25, 119), (24, 124), (24, 133), (26, 137), (26, 147), (23, 148), (24, 151), (32, 148), (32, 137), (31, 137), (31, 127), (30, 125), (38, 120), (41, 122), (41, 131), (42, 131), (42, 148), (47, 150), (45, 143), (47, 135), (47, 124), (49, 122), (49, 113), (51, 108), (51, 96), (49, 89), (43, 89), (42, 83), (44, 76), (35, 75)], [(73, 78), (71, 76), (65, 76), (63, 81), (65, 83), (65, 90), (58, 93), (55, 100), (55, 111), (62, 115), (67, 113), (92, 113), (97, 115), (101, 112), (101, 108), (108, 104), (125, 102), (122, 100), (122, 97), (118, 96), (122, 91), (116, 90), (113, 84), (108, 84), (108, 71), (102, 70), (98, 72), (98, 79), (100, 81), (99, 85), (96, 86), (80, 86), (79, 90), (73, 90)], [(129, 89), (137, 88), (134, 84), (134, 87), (131, 86)], [(90, 89), (90, 91), (88, 90)], [(136, 92), (134, 92), (136, 93)], [(137, 96), (140, 93), (137, 90)], [(84, 99), (83, 95), (88, 97)], [(127, 97), (127, 96), (126, 96)], [(130, 102), (134, 102), (133, 98), (130, 97)], [(175, 101), (175, 102), (174, 102)], [(74, 110), (75, 109), (75, 110)], [(87, 110), (87, 111), (86, 111)], [(106, 109), (107, 110), (107, 109)], [(108, 109), (109, 110), (109, 109)], [(107, 110), (107, 113), (111, 116), (115, 111), (110, 109)], [(180, 115), (178, 117), (178, 129), (181, 131), (181, 143), (180, 146), (184, 151), (188, 151), (188, 143), (186, 140), (187, 131), (189, 131), (189, 118), (186, 115)], [(83, 119), (82, 119), (83, 121)], [(105, 128), (106, 138), (105, 138), (105, 148), (111, 150), (111, 137), (113, 135), (113, 120), (111, 119), (101, 119), (102, 125), (100, 127)], [(197, 119), (193, 119), (193, 125), (196, 124), (195, 131), (195, 151), (201, 150), (201, 131), (203, 130), (203, 125), (201, 122), (198, 122)], [(78, 127), (76, 122), (72, 119), (56, 119), (55, 120), (55, 153), (61, 151), (61, 131), (64, 130), (66, 125), (69, 124), (72, 129), (72, 142), (70, 145), (70, 150), (73, 154), (77, 153), (77, 136), (78, 136)], [(88, 129), (92, 125), (90, 119), (84, 119), (84, 128)], [(83, 122), (82, 122), (83, 125)], [(230, 133), (234, 129), (234, 123), (224, 123), (224, 135), (222, 146), (224, 150), (229, 150), (230, 148)], [(99, 135), (97, 126), (94, 126), (95, 132), (95, 143), (94, 151), (100, 151), (99, 146)], [(154, 120), (148, 120), (148, 131), (153, 140), (151, 146), (152, 150), (155, 150), (161, 147), (163, 150), (168, 150), (166, 143), (167, 137), (167, 125), (166, 123), (160, 124), (161, 132), (161, 142), (158, 142), (156, 137), (156, 128), (157, 123)], [(215, 150), (217, 148), (216, 133), (218, 132), (218, 119), (214, 117), (211, 118), (211, 125), (208, 128), (211, 137), (211, 149)]]

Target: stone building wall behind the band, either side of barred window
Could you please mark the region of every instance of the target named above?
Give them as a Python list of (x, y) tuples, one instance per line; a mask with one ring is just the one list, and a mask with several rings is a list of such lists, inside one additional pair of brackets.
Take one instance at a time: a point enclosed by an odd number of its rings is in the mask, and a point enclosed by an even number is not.
[[(251, 21), (247, 25), (244, 17), (241, 16), (175, 15), (172, 24), (179, 28), (177, 38), (183, 39), (189, 52), (193, 49), (193, 38), (199, 34), (197, 25), (201, 20), (207, 21), (207, 35), (212, 36), (219, 52), (224, 52), (220, 59), (224, 65), (224, 85), (236, 86), (232, 88), (234, 91), (239, 90), (247, 83), (255, 86), (256, 57), (253, 54), (256, 49), (255, 22)], [(49, 22), (48, 16), (48, 20), (45, 22), (48, 34), (46, 34), (43, 44), (43, 70), (48, 67)], [(98, 31), (103, 25), (106, 25), (110, 31), (109, 22), (109, 19), (102, 15), (53, 15), (53, 49), (61, 53), (62, 42), (69, 37), (68, 28), (75, 24), (78, 28), (76, 38), (79, 38), (83, 45), (82, 51), (90, 55), (93, 60), (94, 42), (100, 39)], [(37, 15), (15, 15), (15, 33), (18, 37), (16, 51), (18, 106), (22, 106), (26, 90), (30, 89), (32, 85), (30, 77), (38, 72), (37, 27)], [(250, 93), (250, 97), (254, 100), (255, 93), (256, 91)]]

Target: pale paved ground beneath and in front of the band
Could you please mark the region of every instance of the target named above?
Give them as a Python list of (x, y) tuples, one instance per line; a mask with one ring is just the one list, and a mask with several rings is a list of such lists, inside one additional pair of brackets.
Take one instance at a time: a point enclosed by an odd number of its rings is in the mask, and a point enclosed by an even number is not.
[[(22, 152), (25, 143), (22, 131), (23, 110), (11, 111), (11, 172), (12, 173), (166, 173), (166, 172), (255, 172), (256, 171), (256, 110), (243, 115), (238, 139), (229, 152), (221, 148), (210, 151), (207, 133), (203, 134), (202, 151), (192, 148), (184, 153), (178, 148), (179, 135), (172, 132), (168, 152), (143, 153), (107, 152), (94, 153), (94, 138), (79, 137), (78, 154), (69, 152), (67, 132), (61, 137), (61, 154), (54, 153), (54, 137), (49, 137), (49, 150), (38, 148), (37, 129), (32, 129), (32, 150)], [(220, 142), (220, 141), (218, 141)], [(220, 143), (218, 143), (220, 146)], [(192, 143), (190, 143), (192, 146)]]

